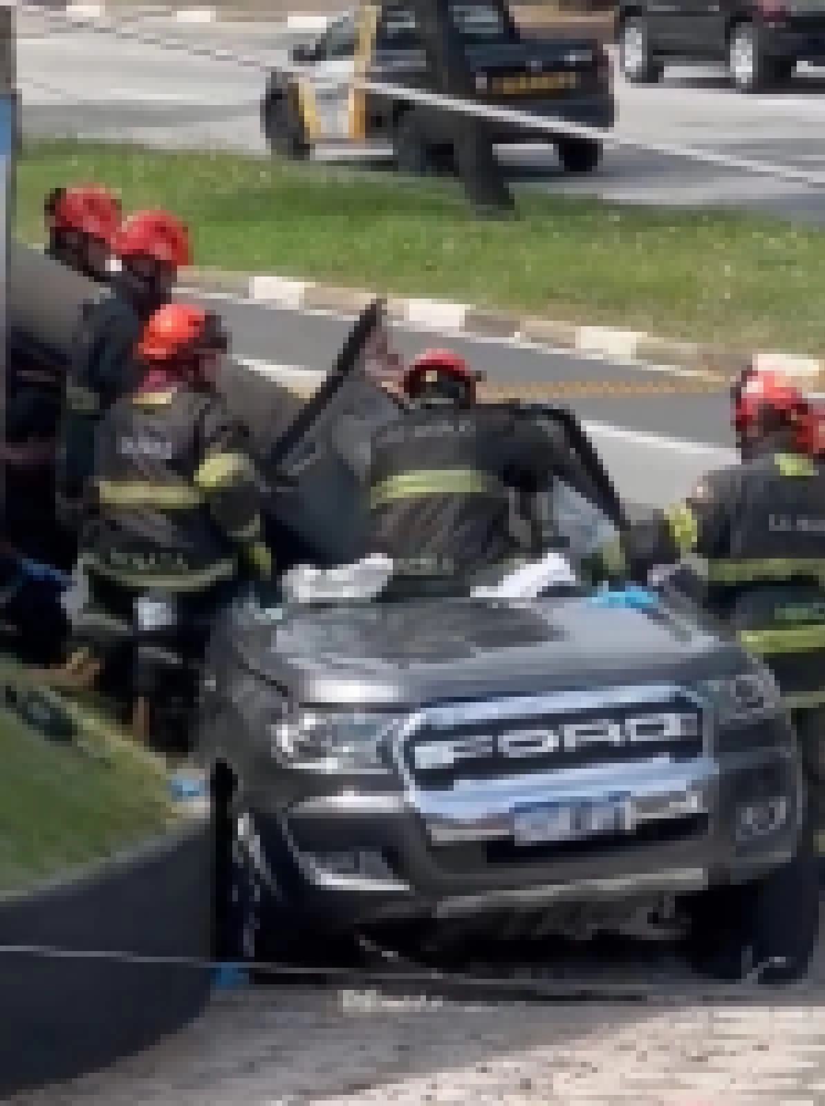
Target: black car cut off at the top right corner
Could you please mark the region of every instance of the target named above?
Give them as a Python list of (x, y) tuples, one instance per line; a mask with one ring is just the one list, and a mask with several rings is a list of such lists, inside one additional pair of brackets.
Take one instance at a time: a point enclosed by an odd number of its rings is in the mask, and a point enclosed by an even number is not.
[(722, 62), (733, 85), (760, 92), (790, 81), (797, 62), (825, 64), (825, 8), (816, 0), (625, 0), (622, 72), (655, 84), (668, 62)]

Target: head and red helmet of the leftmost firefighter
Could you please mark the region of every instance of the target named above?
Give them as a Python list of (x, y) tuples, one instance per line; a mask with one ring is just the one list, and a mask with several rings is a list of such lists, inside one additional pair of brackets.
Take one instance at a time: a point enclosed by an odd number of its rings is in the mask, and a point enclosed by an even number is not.
[(54, 188), (43, 213), (46, 254), (90, 280), (106, 281), (112, 241), (123, 217), (119, 199), (100, 185)]

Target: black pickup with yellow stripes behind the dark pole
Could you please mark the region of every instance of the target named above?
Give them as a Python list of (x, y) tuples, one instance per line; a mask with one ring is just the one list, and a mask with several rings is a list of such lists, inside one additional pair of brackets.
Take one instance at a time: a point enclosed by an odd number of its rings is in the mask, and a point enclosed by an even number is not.
[[(613, 127), (610, 59), (595, 36), (522, 33), (505, 0), (449, 0), (448, 9), (478, 103), (532, 113), (543, 124)], [(363, 3), (293, 46), (289, 66), (270, 74), (261, 103), (270, 150), (294, 159), (322, 148), (352, 150), (389, 156), (407, 175), (453, 171), (453, 113), (356, 87), (365, 81), (461, 95), (438, 86), (411, 7)], [(589, 173), (602, 157), (597, 139), (562, 131), (493, 123), (491, 138), (495, 145), (550, 142), (567, 173)]]

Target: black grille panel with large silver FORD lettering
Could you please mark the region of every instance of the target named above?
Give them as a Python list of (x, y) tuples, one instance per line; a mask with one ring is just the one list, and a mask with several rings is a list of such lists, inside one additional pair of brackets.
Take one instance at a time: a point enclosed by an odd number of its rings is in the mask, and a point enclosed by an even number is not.
[[(492, 729), (492, 728), (490, 728)], [(438, 732), (438, 731), (436, 731)], [(418, 734), (408, 748), (412, 771), (453, 776), (487, 764), (499, 773), (530, 770), (540, 763), (597, 763), (638, 759), (672, 752), (696, 755), (701, 750), (701, 718), (696, 711), (660, 711), (624, 718), (566, 718), (499, 733), (450, 733), (435, 738), (432, 730)]]

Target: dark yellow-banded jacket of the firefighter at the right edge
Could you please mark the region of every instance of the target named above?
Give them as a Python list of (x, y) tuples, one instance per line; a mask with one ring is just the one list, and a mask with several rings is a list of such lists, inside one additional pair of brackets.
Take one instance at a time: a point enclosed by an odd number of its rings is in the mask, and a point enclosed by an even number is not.
[(789, 707), (825, 705), (825, 461), (769, 449), (710, 472), (637, 526), (629, 552), (698, 559), (708, 607), (765, 659)]

